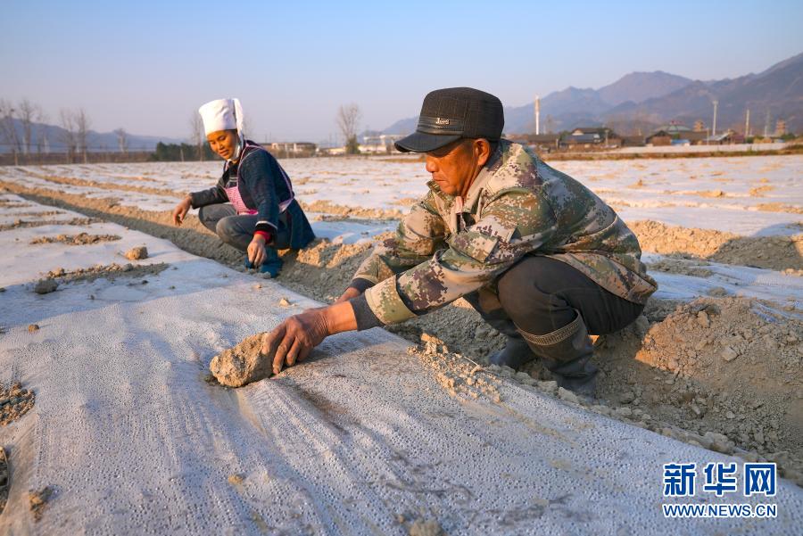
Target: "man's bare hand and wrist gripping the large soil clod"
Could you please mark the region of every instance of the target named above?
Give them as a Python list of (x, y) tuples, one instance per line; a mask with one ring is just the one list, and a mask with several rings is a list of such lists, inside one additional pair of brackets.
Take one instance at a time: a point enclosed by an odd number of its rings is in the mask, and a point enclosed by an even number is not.
[(262, 339), (261, 354), (273, 361), (273, 374), (303, 361), (328, 335), (357, 329), (354, 309), (339, 303), (320, 309), (307, 309), (287, 318)]

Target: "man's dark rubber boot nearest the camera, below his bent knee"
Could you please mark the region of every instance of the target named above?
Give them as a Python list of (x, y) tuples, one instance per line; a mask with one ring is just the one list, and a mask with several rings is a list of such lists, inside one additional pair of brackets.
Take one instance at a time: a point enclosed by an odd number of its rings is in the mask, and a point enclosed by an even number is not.
[(590, 362), (594, 347), (580, 311), (570, 324), (552, 333), (528, 334), (520, 328), (518, 332), (560, 387), (594, 398), (598, 369)]

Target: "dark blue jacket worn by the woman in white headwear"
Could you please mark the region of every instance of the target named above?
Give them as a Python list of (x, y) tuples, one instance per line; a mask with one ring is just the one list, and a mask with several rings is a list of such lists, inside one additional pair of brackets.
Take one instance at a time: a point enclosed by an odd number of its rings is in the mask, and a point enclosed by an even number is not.
[[(258, 223), (254, 230), (274, 233), (278, 228), (279, 204), (293, 196), (293, 186), (290, 177), (273, 155), (250, 140), (245, 141), (245, 147), (235, 166), (229, 167), (228, 161), (223, 165), (223, 175), (217, 185), (190, 194), (193, 208), (228, 202), (225, 188), (232, 179), (232, 174), (235, 174), (237, 189), (245, 206), (259, 212)], [(297, 201), (290, 202), (286, 208), (286, 215), (287, 227), (290, 230), (290, 247), (300, 250), (315, 238), (315, 234)]]

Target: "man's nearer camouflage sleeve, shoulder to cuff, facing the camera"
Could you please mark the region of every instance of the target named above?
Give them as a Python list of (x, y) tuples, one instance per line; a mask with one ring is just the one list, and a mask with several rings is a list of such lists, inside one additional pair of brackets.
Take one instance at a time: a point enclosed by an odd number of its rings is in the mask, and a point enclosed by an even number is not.
[(549, 243), (557, 227), (543, 194), (504, 190), (488, 202), (475, 225), (451, 236), (447, 249), (369, 288), (368, 306), (383, 324), (443, 307), (490, 283), (526, 253)]

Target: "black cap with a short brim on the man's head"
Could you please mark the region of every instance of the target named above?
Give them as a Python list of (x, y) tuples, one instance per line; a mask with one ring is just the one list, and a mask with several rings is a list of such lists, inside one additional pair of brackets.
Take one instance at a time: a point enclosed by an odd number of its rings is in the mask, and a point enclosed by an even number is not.
[(418, 128), (395, 143), (402, 153), (428, 153), (461, 137), (499, 141), (505, 113), (499, 98), (472, 87), (435, 89), (424, 97)]

